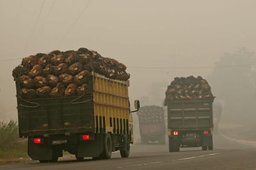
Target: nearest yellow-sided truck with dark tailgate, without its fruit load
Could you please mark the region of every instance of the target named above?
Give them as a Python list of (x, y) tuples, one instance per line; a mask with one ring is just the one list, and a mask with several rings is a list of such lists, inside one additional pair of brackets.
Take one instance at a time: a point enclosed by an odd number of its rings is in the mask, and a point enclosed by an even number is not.
[[(128, 157), (133, 124), (128, 81), (89, 75), (90, 93), (82, 96), (22, 99), (16, 81), (19, 136), (28, 138), (28, 155), (40, 162), (58, 161), (63, 150), (76, 159), (110, 159), (120, 150)], [(135, 101), (135, 109), (140, 102)]]

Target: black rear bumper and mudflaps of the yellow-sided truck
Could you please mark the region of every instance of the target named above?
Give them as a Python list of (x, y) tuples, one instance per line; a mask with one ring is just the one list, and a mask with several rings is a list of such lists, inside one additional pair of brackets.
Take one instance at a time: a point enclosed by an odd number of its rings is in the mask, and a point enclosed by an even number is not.
[[(34, 137), (28, 140), (28, 155), (33, 160), (47, 161), (53, 157), (62, 157), (63, 150), (78, 157), (97, 157), (103, 151), (103, 134), (96, 134), (94, 140), (82, 141), (79, 135), (41, 137), (42, 143), (34, 143)], [(53, 141), (67, 141), (54, 143)]]

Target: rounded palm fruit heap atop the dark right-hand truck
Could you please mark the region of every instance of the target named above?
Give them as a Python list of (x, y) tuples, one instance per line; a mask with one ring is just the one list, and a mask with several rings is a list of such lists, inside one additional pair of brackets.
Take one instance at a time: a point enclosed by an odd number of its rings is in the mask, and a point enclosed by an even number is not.
[(166, 91), (167, 100), (201, 100), (212, 99), (211, 87), (201, 76), (176, 77)]

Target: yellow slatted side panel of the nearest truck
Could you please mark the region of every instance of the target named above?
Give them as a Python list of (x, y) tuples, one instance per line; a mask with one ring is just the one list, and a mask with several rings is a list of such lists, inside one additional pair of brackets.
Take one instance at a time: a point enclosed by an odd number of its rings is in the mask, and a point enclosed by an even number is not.
[(128, 82), (95, 74), (93, 102), (96, 132), (130, 133), (132, 118), (129, 108)]

